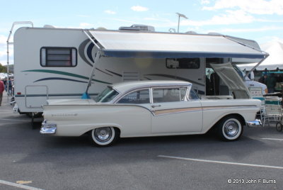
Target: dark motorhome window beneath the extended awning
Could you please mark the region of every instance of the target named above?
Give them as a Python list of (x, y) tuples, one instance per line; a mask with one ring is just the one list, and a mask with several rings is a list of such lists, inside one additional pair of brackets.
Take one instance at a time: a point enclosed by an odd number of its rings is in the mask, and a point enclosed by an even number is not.
[(166, 59), (168, 69), (200, 69), (200, 58)]

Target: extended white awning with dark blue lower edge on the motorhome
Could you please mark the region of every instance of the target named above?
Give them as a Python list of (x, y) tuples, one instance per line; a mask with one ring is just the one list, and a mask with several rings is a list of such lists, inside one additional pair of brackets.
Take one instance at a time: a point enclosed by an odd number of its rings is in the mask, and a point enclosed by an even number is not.
[(145, 33), (88, 30), (103, 54), (109, 57), (238, 57), (262, 59), (265, 53), (223, 35)]

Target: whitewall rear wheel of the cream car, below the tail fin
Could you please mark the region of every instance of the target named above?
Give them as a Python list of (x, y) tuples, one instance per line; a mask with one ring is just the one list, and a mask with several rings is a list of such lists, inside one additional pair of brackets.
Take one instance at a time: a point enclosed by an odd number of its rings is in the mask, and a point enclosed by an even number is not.
[(108, 147), (118, 138), (118, 130), (113, 127), (103, 127), (91, 130), (91, 141), (97, 147)]

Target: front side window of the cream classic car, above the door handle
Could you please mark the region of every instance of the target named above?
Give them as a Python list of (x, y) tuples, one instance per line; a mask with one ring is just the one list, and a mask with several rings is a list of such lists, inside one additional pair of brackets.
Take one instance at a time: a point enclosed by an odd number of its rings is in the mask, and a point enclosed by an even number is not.
[(186, 91), (187, 88), (153, 89), (152, 94), (153, 94), (154, 103), (185, 101)]

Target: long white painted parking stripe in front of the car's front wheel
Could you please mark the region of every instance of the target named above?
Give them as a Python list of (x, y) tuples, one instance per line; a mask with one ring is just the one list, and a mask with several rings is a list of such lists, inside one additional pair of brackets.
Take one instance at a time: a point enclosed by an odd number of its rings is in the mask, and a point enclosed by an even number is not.
[(195, 161), (195, 162), (209, 162), (209, 163), (231, 164), (231, 165), (240, 165), (240, 166), (248, 166), (248, 167), (265, 167), (265, 168), (272, 168), (272, 169), (283, 169), (283, 167), (277, 167), (277, 166), (245, 164), (245, 163), (238, 163), (238, 162), (223, 162), (223, 161), (216, 161), (216, 160), (201, 160), (201, 159), (194, 159), (194, 158), (187, 158), (187, 157), (171, 157), (171, 156), (166, 156), (166, 155), (158, 155), (158, 157), (166, 157), (166, 158), (178, 159), (178, 160), (189, 160), (189, 161)]

